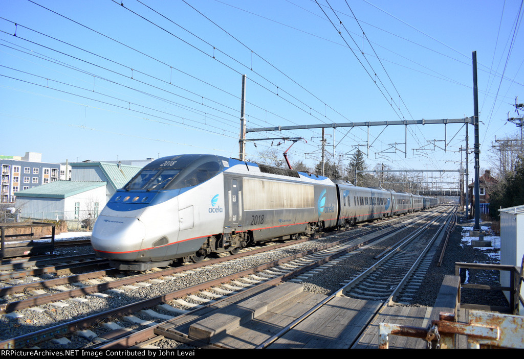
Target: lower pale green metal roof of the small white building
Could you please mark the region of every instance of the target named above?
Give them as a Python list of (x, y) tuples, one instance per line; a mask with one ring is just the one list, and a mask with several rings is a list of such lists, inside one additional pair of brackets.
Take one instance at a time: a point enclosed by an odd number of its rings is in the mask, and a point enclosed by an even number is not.
[(39, 197), (39, 198), (67, 198), (72, 195), (103, 187), (107, 182), (88, 182), (88, 181), (54, 181), (33, 187), (28, 190), (16, 192), (19, 197)]

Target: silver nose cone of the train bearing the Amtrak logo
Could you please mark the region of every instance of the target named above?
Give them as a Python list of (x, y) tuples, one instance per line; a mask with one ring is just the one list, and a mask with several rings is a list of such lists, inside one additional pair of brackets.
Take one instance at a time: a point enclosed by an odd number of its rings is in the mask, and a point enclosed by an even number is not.
[(136, 217), (101, 215), (93, 227), (91, 245), (96, 251), (125, 253), (139, 249), (145, 236), (146, 226)]

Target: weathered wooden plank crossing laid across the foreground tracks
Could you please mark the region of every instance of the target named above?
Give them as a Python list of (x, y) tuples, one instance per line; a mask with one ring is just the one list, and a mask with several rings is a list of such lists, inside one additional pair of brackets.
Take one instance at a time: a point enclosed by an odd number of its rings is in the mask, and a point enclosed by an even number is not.
[[(435, 316), (435, 310), (452, 311), (456, 302), (452, 295), (455, 282), (454, 278), (444, 281), (441, 288), (441, 299), (444, 300), (436, 303), (436, 309), (382, 307), (383, 303), (375, 300), (335, 297), (269, 348), (378, 348), (380, 322), (427, 328)], [(188, 343), (200, 343), (204, 348), (253, 349), (325, 298), (324, 295), (303, 292), (302, 285), (296, 283), (266, 285), (258, 288), (255, 294), (226, 298), (198, 312), (174, 318), (159, 329), (158, 334)], [(370, 323), (380, 308), (378, 318)], [(202, 313), (205, 313), (205, 318)], [(425, 346), (426, 342), (421, 339), (390, 336), (390, 348), (421, 349)]]

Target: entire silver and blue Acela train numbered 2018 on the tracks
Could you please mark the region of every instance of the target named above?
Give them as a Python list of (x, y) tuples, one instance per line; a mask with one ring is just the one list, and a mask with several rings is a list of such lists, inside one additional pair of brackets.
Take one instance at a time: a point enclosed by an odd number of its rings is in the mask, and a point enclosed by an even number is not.
[(221, 156), (169, 156), (113, 195), (96, 219), (91, 244), (115, 268), (144, 271), (438, 204)]

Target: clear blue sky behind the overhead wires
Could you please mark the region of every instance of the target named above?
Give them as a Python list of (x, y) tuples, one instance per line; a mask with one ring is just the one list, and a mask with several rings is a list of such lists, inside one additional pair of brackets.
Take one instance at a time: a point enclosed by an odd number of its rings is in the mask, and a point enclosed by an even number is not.
[[(470, 117), (476, 51), (481, 169), (496, 170), (492, 142), (517, 133), (508, 112), (517, 115), (517, 96), (524, 102), (521, 5), (3, 1), (0, 154), (40, 152), (49, 162), (238, 157), (243, 74), (248, 128)], [(248, 138), (303, 137), (290, 157), (314, 166), (320, 135)], [(403, 126), (373, 126), (366, 163), (457, 169), (464, 136), (463, 125), (408, 126), (405, 154)], [(367, 137), (366, 128), (326, 130), (327, 150), (347, 163), (356, 146), (367, 152)], [(248, 143), (248, 159), (280, 155), (291, 144), (277, 143)]]

